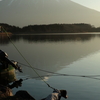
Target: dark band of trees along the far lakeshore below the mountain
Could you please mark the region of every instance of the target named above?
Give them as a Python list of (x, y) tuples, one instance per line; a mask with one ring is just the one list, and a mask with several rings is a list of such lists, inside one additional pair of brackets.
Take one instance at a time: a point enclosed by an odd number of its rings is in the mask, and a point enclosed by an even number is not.
[(22, 28), (0, 23), (7, 32), (12, 33), (78, 33), (78, 32), (100, 32), (100, 27), (90, 24), (48, 24), (48, 25), (28, 25)]

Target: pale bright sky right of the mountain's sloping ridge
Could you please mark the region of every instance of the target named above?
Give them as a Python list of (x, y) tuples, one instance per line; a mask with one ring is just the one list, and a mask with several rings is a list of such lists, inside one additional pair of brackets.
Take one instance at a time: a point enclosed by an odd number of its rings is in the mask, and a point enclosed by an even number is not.
[(83, 6), (100, 11), (100, 0), (71, 0)]

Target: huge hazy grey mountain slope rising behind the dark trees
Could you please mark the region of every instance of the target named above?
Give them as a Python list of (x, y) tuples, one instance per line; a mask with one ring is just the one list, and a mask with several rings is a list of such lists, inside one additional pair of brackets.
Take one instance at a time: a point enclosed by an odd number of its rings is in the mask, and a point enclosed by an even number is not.
[(3, 0), (0, 23), (17, 26), (53, 23), (88, 23), (100, 26), (100, 12), (71, 0)]

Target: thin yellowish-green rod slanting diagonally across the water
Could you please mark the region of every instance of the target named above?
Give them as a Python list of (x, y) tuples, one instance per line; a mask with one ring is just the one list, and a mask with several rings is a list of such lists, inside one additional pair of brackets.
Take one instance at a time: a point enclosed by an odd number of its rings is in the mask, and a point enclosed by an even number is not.
[(38, 72), (31, 66), (31, 64), (28, 62), (28, 60), (22, 55), (22, 53), (19, 51), (19, 49), (16, 47), (16, 45), (13, 43), (13, 41), (11, 40), (9, 34), (7, 33), (7, 31), (1, 26), (2, 30), (5, 32), (5, 34), (7, 35), (7, 37), (9, 38), (10, 42), (13, 44), (13, 46), (15, 47), (15, 49), (18, 51), (18, 53), (22, 56), (22, 58), (26, 61), (26, 63), (32, 68), (32, 70), (40, 77), (40, 79), (48, 85), (48, 87), (50, 87), (50, 85), (38, 74)]

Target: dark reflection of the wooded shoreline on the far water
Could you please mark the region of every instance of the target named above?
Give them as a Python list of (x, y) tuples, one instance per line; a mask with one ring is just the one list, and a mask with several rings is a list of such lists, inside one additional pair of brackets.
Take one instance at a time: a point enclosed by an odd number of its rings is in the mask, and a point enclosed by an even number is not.
[[(88, 41), (100, 34), (54, 34), (54, 35), (12, 35), (11, 40), (24, 40), (28, 42), (58, 42), (58, 41)], [(8, 44), (9, 39), (6, 35), (0, 35), (0, 44)]]

